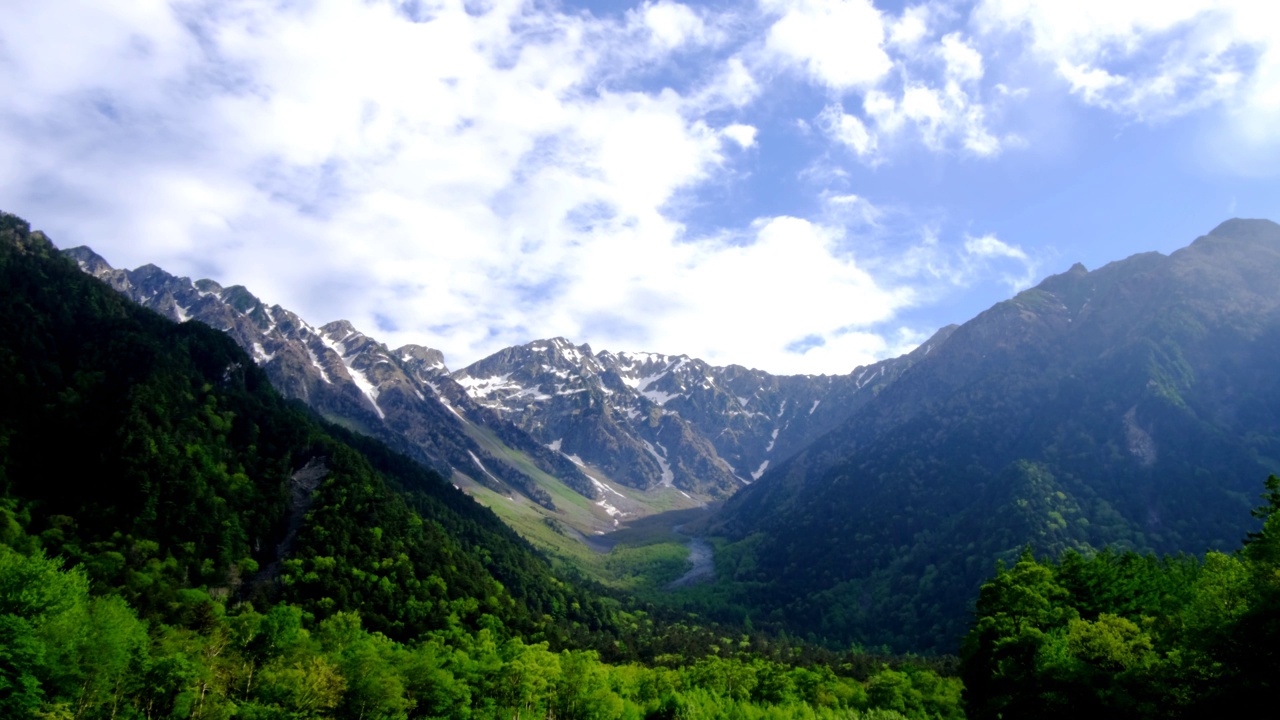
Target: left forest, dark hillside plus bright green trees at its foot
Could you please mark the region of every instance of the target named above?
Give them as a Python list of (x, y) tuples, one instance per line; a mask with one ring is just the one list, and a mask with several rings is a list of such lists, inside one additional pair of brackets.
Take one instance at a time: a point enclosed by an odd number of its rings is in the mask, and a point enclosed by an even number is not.
[(923, 660), (557, 575), (436, 473), (12, 215), (0, 284), (0, 716), (961, 716)]

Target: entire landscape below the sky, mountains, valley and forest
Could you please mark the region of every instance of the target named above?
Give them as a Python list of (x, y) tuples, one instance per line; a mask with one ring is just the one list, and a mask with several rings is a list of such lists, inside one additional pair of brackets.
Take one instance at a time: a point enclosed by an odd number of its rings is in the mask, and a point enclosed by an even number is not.
[[(230, 679), (206, 683), (227, 712), (303, 707), (282, 688), (333, 664), (378, 667), (403, 688), (388, 707), (480, 716), (996, 717), (1158, 697), (1133, 715), (1192, 717), (1219, 698), (1183, 694), (1197, 678), (1251, 697), (1270, 667), (1275, 223), (1075, 265), (847, 375), (780, 377), (563, 338), (449, 372), (3, 219), (0, 577), (115, 612), (146, 667), (239, 638), (237, 669), (200, 651)], [(13, 582), (0, 620), (22, 642), (81, 642), (56, 597), (32, 615)], [(293, 650), (253, 639), (288, 626)], [(378, 643), (365, 670), (344, 655)], [(15, 667), (106, 707), (9, 657), (0, 680)], [(116, 688), (152, 671), (129, 662)], [(556, 679), (498, 689), (530, 667)], [(358, 715), (337, 708), (364, 696), (334, 688), (325, 707)], [(577, 691), (596, 710), (564, 705)], [(897, 715), (864, 715), (881, 711)]]

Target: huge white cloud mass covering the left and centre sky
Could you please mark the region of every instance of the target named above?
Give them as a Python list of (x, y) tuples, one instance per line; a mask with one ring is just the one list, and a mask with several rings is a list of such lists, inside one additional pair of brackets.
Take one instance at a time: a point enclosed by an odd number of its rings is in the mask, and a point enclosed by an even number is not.
[[(22, 99), (0, 110), (0, 186), (40, 187), (5, 202), (60, 243), (242, 283), (453, 364), (553, 334), (782, 372), (896, 347), (859, 328), (913, 291), (877, 283), (838, 225), (769, 217), (692, 238), (668, 215), (726, 172), (726, 141), (758, 133), (707, 120), (760, 92), (732, 51), (685, 92), (600, 82), (723, 41), (687, 8), (608, 20), (440, 3), (428, 22), (389, 3), (180, 8), (20, 13), (23, 38), (93, 35), (82, 17), (101, 31), (56, 77), (0, 61)], [(873, 214), (855, 196), (833, 205)], [(788, 352), (797, 332), (828, 342)]]

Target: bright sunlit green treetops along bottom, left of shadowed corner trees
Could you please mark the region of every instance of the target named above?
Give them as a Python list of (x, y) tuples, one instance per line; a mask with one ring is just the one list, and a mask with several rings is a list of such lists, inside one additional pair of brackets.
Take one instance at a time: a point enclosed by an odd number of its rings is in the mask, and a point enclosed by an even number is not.
[(241, 603), (196, 632), (92, 597), (83, 571), (59, 565), (0, 546), (5, 717), (963, 717), (959, 682), (922, 667), (860, 682), (760, 657), (609, 665), (492, 618), (398, 643), (355, 612), (316, 623), (297, 606)]

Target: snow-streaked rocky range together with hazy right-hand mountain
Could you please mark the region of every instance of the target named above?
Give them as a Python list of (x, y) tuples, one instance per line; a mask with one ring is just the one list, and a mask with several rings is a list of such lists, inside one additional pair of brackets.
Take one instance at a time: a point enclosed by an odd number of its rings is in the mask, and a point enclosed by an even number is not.
[(691, 596), (815, 639), (954, 648), (980, 580), (1025, 546), (1234, 548), (1280, 470), (1267, 220), (1075, 265), (902, 357), (817, 377), (564, 338), (449, 372), (435, 350), (312, 327), (242, 287), (65, 252), (228, 332), (287, 396), (495, 510), (563, 521), (570, 542), (726, 500), (705, 529), (719, 580)]

